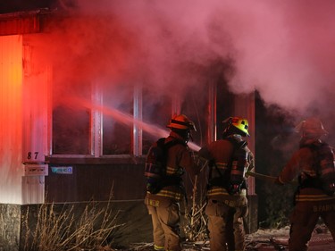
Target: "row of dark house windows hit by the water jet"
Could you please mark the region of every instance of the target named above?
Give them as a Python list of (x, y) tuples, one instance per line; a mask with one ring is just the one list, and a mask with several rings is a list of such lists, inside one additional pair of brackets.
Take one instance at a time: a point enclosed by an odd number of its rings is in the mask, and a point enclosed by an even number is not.
[(147, 88), (120, 83), (54, 88), (52, 155), (146, 155), (157, 138), (168, 135), (173, 113), (185, 113), (196, 123), (192, 136), (201, 146), (209, 138), (208, 129), (216, 128), (208, 124), (215, 111), (208, 106), (216, 104), (209, 90), (189, 88), (187, 96), (174, 102), (170, 96), (157, 98)]

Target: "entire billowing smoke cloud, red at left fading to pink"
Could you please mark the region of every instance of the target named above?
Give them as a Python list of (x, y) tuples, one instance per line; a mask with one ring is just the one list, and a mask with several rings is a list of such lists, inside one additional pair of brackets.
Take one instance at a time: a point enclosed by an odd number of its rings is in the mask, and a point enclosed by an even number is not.
[(76, 72), (72, 79), (183, 96), (221, 77), (234, 93), (257, 90), (269, 107), (330, 118), (334, 7), (331, 0), (78, 0), (68, 4), (71, 21), (56, 24), (50, 52), (62, 55), (60, 82)]

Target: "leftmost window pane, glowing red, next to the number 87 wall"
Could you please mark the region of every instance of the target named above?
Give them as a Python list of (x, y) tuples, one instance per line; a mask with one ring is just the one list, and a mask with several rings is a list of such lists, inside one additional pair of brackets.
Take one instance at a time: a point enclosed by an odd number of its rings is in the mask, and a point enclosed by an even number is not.
[(91, 109), (84, 102), (90, 96), (90, 85), (71, 82), (57, 85), (53, 92), (52, 154), (90, 155)]

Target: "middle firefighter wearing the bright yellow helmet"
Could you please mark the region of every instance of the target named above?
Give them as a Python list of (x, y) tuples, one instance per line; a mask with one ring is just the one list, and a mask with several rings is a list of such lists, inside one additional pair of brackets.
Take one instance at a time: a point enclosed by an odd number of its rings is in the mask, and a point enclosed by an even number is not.
[(218, 139), (199, 150), (209, 161), (207, 205), (211, 251), (245, 250), (243, 218), (247, 216), (247, 179), (254, 168), (254, 155), (243, 139), (249, 136), (248, 122), (240, 117), (223, 121)]

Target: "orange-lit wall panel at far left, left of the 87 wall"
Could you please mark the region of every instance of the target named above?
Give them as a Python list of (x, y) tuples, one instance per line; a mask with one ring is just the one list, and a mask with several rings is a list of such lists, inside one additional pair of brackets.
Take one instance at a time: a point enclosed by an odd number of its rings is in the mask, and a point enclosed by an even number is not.
[(0, 203), (21, 204), (22, 36), (0, 37)]

